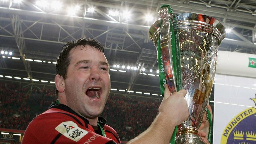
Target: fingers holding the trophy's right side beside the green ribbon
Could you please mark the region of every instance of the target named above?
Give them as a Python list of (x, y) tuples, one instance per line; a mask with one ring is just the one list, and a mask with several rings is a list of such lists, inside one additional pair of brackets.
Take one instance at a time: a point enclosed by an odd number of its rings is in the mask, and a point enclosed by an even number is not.
[[(207, 105), (208, 110), (211, 113), (211, 118), (212, 118), (212, 109), (210, 105)], [(212, 119), (211, 119), (212, 120)], [(208, 142), (208, 133), (209, 133), (209, 127), (210, 127), (210, 123), (207, 120), (207, 114), (206, 111), (204, 112), (204, 116), (203, 116), (203, 120), (202, 120), (202, 124), (198, 129), (198, 133), (201, 136), (201, 138), (209, 144)]]

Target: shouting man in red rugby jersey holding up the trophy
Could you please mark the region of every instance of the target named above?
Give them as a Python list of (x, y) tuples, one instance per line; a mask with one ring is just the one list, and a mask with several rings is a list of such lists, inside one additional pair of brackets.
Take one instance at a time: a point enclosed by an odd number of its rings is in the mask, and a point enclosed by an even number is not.
[[(102, 113), (110, 92), (109, 64), (93, 39), (69, 42), (57, 58), (55, 85), (59, 104), (35, 117), (22, 144), (121, 143)], [(151, 126), (129, 144), (168, 143), (176, 125), (188, 118), (186, 90), (165, 95)]]

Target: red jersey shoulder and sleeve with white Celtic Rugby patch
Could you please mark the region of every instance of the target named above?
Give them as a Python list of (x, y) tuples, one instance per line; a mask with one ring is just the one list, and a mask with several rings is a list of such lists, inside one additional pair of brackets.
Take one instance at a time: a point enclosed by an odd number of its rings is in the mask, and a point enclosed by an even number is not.
[(107, 143), (111, 141), (88, 128), (79, 117), (50, 109), (35, 117), (28, 125), (22, 143)]

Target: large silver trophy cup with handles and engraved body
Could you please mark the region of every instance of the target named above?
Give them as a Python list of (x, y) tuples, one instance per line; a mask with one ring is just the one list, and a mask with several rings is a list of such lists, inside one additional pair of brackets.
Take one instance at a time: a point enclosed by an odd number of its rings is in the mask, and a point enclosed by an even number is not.
[[(151, 26), (149, 36), (156, 48), (160, 43), (162, 57), (166, 59), (163, 64), (169, 90), (175, 92), (173, 88), (176, 89), (177, 83), (175, 78), (168, 78), (166, 73), (171, 71), (174, 75), (170, 21), (179, 42), (180, 65), (176, 66), (181, 70), (182, 89), (187, 90), (185, 99), (189, 107), (189, 118), (178, 126), (175, 144), (205, 144), (197, 130), (211, 94), (217, 52), (225, 37), (225, 28), (215, 18), (202, 14), (170, 14), (166, 7), (160, 8), (158, 13), (161, 20)], [(167, 66), (164, 61), (170, 64)]]

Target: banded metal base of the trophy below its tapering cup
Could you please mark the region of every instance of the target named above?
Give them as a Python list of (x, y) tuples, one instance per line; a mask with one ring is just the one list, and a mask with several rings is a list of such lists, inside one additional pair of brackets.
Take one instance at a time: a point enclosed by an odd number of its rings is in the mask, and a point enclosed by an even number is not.
[(186, 129), (181, 129), (176, 138), (175, 144), (207, 144), (204, 140), (199, 136), (197, 130), (193, 127), (189, 127)]

